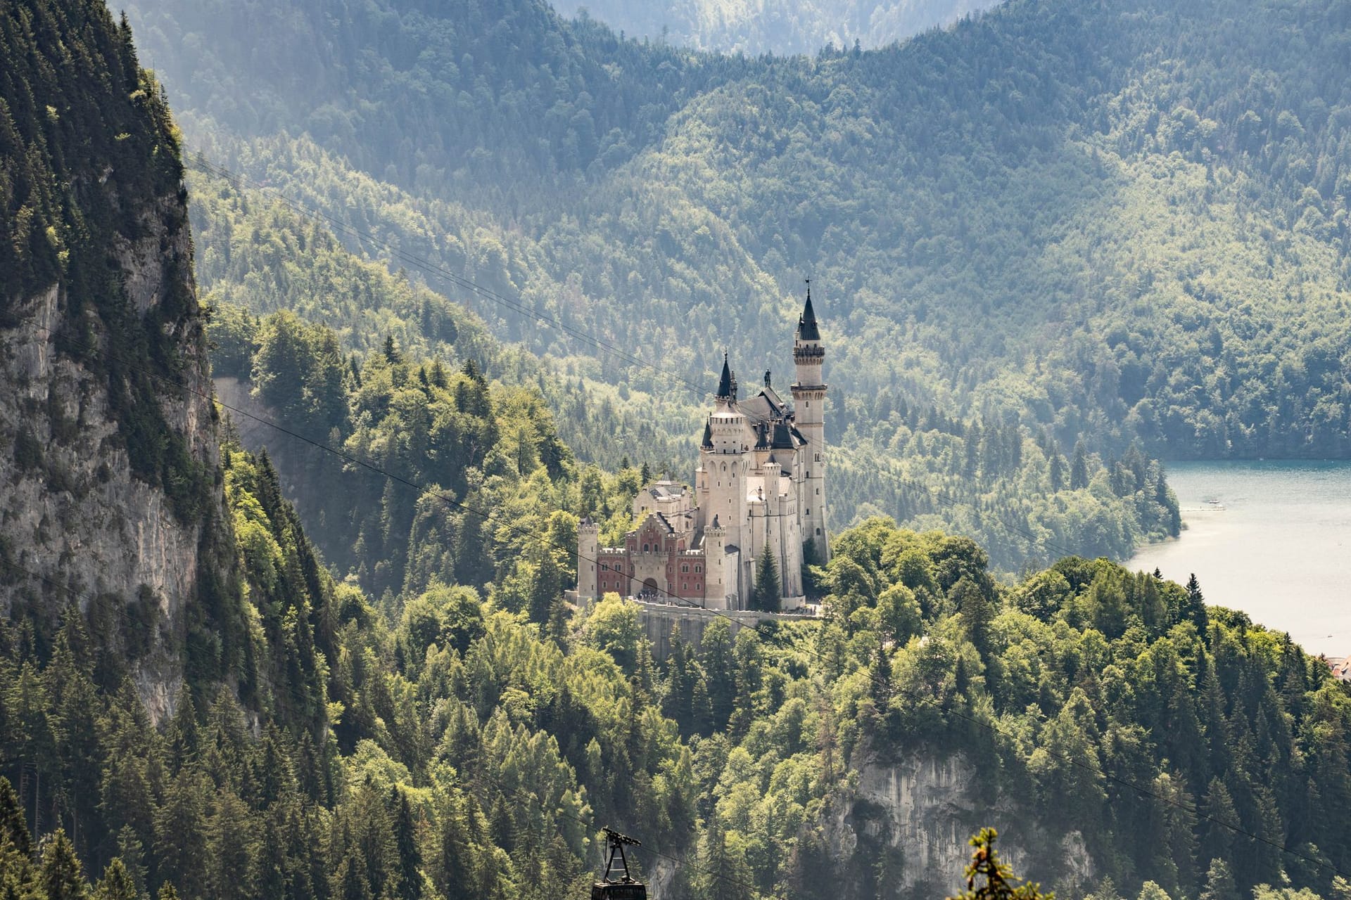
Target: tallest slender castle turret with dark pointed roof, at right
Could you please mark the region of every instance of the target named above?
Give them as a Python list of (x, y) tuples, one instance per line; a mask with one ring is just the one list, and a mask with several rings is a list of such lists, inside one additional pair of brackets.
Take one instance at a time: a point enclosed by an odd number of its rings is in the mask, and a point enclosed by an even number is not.
[(825, 381), (821, 376), (825, 362), (825, 348), (821, 347), (821, 332), (816, 325), (816, 310), (812, 309), (812, 283), (807, 282), (807, 305), (797, 320), (797, 335), (793, 340), (793, 364), (797, 381), (793, 382), (793, 417), (797, 430), (807, 439), (801, 448), (802, 490), (798, 505), (802, 510), (802, 540), (811, 541), (819, 563), (830, 560), (830, 544), (825, 533)]

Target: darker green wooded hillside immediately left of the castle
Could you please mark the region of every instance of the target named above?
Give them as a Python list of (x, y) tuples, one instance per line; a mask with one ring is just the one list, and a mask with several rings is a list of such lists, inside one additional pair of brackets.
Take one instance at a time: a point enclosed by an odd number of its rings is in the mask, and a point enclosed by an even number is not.
[(501, 606), (544, 622), (576, 580), (578, 517), (607, 533), (630, 526), (636, 472), (578, 466), (536, 389), (489, 383), (473, 360), (458, 371), (385, 351), (343, 362), (332, 332), (290, 313), (255, 335), (261, 412), (401, 479), (267, 434), (308, 533), (372, 592), (493, 583)]

